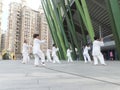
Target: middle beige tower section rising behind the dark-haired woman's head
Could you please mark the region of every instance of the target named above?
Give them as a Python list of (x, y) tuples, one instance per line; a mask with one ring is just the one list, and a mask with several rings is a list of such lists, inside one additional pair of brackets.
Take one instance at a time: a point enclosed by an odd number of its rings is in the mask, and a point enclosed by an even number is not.
[(33, 34), (40, 34), (39, 26), (39, 12), (34, 11), (27, 6), (24, 6), (22, 8), (21, 49), (24, 40), (27, 40), (29, 45), (33, 43)]

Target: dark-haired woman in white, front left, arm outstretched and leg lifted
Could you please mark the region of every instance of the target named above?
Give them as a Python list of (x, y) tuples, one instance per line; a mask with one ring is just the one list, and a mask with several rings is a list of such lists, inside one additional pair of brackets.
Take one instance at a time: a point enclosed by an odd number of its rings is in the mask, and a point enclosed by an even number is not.
[(45, 40), (40, 40), (39, 34), (34, 34), (33, 38), (34, 38), (34, 40), (33, 40), (33, 54), (35, 57), (34, 65), (39, 66), (39, 59), (41, 59), (41, 64), (45, 65), (45, 55), (42, 52), (42, 50), (40, 49), (40, 44), (45, 43)]

